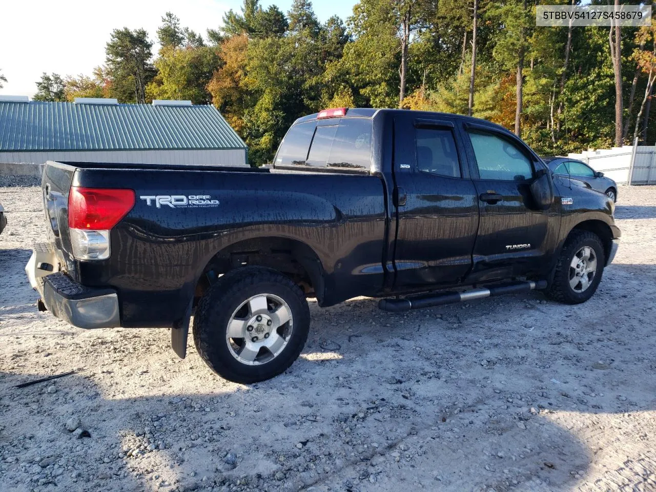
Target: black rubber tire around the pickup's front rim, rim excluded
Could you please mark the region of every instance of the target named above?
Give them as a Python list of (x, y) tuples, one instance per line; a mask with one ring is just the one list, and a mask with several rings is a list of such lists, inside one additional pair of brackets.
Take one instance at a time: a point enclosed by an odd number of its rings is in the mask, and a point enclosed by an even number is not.
[[(597, 270), (590, 282), (590, 286), (585, 291), (578, 293), (569, 284), (569, 266), (574, 255), (584, 246), (594, 249), (597, 258)], [(560, 257), (556, 264), (553, 280), (545, 291), (545, 295), (565, 304), (581, 304), (581, 302), (585, 302), (594, 295), (602, 280), (605, 261), (604, 246), (599, 236), (583, 230), (572, 231), (565, 240), (565, 245), (560, 252)]]

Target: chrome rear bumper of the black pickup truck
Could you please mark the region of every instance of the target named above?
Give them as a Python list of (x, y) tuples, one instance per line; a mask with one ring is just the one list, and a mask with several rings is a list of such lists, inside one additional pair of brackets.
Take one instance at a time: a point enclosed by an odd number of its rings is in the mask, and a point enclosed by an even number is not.
[[(53, 257), (52, 249), (47, 245), (36, 245), (25, 267), (31, 286), (41, 295), (47, 310), (56, 318), (78, 328), (120, 326), (116, 291), (85, 287), (63, 272), (51, 273), (52, 265), (55, 264)], [(44, 270), (48, 266), (51, 270)]]

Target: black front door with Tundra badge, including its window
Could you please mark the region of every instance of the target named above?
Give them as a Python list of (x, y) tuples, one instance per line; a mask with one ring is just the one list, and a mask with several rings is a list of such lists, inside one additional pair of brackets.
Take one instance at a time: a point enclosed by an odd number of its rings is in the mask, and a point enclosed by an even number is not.
[(542, 167), (514, 135), (491, 125), (461, 123), (478, 193), (480, 223), (474, 245), (475, 281), (541, 270), (557, 231), (556, 208), (532, 206), (530, 184)]

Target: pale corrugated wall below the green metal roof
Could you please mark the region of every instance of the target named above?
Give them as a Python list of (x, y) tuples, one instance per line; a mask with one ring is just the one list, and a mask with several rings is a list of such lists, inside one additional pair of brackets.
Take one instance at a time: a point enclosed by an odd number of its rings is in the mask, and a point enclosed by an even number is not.
[(245, 166), (243, 149), (219, 150), (98, 150), (64, 152), (0, 152), (0, 163), (34, 163), (45, 161), (119, 162), (125, 164), (185, 164)]

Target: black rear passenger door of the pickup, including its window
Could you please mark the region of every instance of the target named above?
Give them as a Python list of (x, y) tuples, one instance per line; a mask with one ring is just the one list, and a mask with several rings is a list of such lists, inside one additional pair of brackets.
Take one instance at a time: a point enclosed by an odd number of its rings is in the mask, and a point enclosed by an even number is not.
[(449, 118), (396, 113), (394, 289), (455, 283), (472, 266), (478, 198)]

